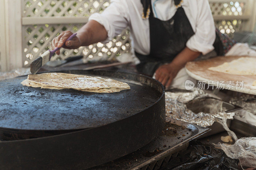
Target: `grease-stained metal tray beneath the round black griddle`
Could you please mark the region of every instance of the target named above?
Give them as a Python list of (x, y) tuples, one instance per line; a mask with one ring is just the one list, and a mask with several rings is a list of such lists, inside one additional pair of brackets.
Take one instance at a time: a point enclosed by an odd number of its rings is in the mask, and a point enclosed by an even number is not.
[[(168, 129), (170, 127), (176, 129), (177, 133)], [(190, 140), (209, 130), (166, 117), (165, 129), (161, 136), (129, 155), (90, 169), (158, 169), (177, 156), (179, 151), (186, 149)]]

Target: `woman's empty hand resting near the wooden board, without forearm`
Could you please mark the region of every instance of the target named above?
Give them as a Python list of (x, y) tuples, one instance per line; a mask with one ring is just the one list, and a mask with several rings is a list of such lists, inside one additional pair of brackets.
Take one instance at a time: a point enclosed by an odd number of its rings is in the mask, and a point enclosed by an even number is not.
[(161, 65), (156, 70), (156, 80), (160, 81), (165, 87), (169, 87), (180, 69), (179, 66), (172, 63)]

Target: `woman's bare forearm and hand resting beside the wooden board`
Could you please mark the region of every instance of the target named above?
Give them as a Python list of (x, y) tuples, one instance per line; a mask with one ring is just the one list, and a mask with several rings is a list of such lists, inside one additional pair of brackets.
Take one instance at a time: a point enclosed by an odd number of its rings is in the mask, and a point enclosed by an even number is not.
[(160, 66), (156, 70), (156, 79), (160, 81), (165, 87), (169, 87), (173, 78), (189, 61), (195, 60), (201, 53), (184, 48), (171, 63)]

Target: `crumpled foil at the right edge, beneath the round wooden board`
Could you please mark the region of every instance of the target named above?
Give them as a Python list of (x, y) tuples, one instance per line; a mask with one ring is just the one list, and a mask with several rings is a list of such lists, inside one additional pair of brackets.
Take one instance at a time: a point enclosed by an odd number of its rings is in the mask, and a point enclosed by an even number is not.
[(240, 106), (244, 110), (256, 115), (256, 95), (242, 94), (239, 97), (232, 97), (229, 103)]

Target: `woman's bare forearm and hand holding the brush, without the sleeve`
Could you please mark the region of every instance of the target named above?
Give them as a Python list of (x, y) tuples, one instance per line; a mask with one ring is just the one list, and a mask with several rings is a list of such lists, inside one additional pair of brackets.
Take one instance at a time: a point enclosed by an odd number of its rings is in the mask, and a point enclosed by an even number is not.
[[(64, 42), (68, 39), (73, 33), (71, 31), (63, 31), (58, 37), (55, 37), (52, 40), (52, 49), (57, 47), (75, 49), (80, 46), (87, 46), (95, 42), (104, 41), (108, 37), (108, 33), (104, 26), (100, 25), (97, 21), (90, 20), (77, 32), (76, 37), (72, 40)], [(56, 51), (57, 55), (60, 55), (60, 50)]]

